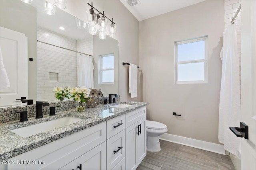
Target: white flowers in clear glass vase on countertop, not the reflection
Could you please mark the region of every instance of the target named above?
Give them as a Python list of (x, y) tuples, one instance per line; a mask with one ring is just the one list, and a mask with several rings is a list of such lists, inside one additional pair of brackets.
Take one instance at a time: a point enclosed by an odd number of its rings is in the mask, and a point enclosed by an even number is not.
[(86, 87), (75, 87), (72, 88), (69, 91), (71, 97), (78, 102), (76, 108), (78, 111), (84, 111), (84, 108), (86, 107), (86, 103), (90, 98), (89, 98), (89, 94), (90, 91), (88, 88)]

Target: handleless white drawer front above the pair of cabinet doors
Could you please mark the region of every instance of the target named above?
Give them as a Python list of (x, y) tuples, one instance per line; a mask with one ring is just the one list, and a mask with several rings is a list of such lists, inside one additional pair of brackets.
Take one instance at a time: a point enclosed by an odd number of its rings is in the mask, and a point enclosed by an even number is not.
[(146, 117), (146, 107), (142, 107), (125, 114), (125, 127), (136, 123), (138, 120)]

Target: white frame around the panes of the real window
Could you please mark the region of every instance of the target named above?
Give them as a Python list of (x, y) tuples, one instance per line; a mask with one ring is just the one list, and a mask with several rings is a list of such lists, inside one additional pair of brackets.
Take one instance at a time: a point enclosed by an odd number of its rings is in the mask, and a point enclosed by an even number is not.
[[(188, 61), (178, 61), (178, 45), (194, 43), (198, 41), (204, 41), (204, 59), (199, 60), (188, 60)], [(179, 64), (188, 64), (188, 63), (204, 63), (204, 80), (195, 80), (195, 81), (178, 81), (178, 65)], [(206, 84), (208, 83), (208, 35), (197, 37), (193, 39), (175, 41), (174, 42), (174, 69), (175, 69), (175, 84)]]

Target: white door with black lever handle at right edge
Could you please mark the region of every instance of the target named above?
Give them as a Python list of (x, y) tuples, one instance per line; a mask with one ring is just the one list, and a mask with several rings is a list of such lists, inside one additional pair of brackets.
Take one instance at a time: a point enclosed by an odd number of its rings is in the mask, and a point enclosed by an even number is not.
[(241, 0), (241, 108), (249, 139), (242, 138), (241, 168), (256, 170), (256, 0)]

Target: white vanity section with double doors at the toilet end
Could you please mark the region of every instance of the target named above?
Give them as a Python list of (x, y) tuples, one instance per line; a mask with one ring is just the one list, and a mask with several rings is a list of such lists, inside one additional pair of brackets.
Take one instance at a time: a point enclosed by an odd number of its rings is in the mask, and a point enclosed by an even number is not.
[(125, 115), (125, 169), (135, 170), (146, 156), (146, 107)]

